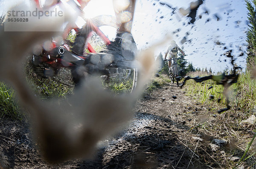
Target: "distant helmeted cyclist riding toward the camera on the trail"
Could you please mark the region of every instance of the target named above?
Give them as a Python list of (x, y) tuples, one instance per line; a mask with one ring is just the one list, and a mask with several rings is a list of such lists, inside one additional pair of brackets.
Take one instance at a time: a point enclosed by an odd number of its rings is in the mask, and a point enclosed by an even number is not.
[[(184, 56), (185, 53), (178, 47), (176, 42), (174, 40), (171, 41), (171, 45), (168, 47), (166, 54), (164, 56), (164, 60), (166, 61), (166, 57), (168, 56), (168, 59), (174, 59), (177, 58), (178, 51)], [(173, 73), (172, 70), (172, 62), (168, 61), (168, 67), (169, 67), (169, 74)]]

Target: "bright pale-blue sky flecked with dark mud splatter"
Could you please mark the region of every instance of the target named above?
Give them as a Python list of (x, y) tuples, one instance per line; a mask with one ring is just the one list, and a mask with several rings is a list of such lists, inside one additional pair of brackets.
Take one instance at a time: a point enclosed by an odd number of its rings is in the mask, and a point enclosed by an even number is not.
[[(185, 58), (192, 62), (195, 68), (211, 67), (215, 72), (232, 68), (230, 60), (221, 56), (231, 49), (232, 54), (236, 56), (235, 62), (245, 67), (245, 56), (239, 57), (239, 48), (246, 50), (244, 38), (247, 30), (247, 8), (244, 0), (204, 0), (197, 11), (195, 24), (188, 24), (190, 18), (182, 16), (178, 9), (186, 9), (194, 1), (196, 0), (137, 0), (132, 34), (138, 48), (148, 48), (165, 39), (167, 35), (172, 35), (181, 47), (181, 40), (188, 34), (186, 39), (191, 42), (183, 44), (188, 55)], [(175, 14), (172, 14), (171, 8), (160, 5), (160, 2), (176, 8)], [(3, 8), (2, 5), (0, 2), (0, 8)], [(84, 11), (87, 17), (102, 14), (115, 16), (112, 0), (91, 0)], [(201, 19), (199, 15), (202, 16)], [(215, 15), (221, 20), (217, 21)], [(115, 28), (103, 26), (101, 29), (110, 39), (116, 35)], [(174, 34), (177, 29), (180, 31)], [(221, 45), (216, 45), (217, 41)], [(167, 48), (168, 44), (157, 48), (155, 54), (162, 52), (164, 55)]]

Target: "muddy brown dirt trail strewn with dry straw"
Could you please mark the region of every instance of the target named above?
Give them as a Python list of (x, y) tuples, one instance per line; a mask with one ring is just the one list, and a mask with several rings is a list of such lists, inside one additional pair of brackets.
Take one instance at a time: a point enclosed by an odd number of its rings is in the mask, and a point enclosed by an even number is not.
[(215, 163), (219, 154), (208, 145), (213, 138), (197, 135), (192, 127), (204, 107), (184, 93), (172, 84), (154, 90), (138, 101), (135, 117), (123, 132), (99, 144), (94, 158), (54, 166), (41, 159), (26, 123), (3, 119), (0, 165), (16, 169), (224, 168)]

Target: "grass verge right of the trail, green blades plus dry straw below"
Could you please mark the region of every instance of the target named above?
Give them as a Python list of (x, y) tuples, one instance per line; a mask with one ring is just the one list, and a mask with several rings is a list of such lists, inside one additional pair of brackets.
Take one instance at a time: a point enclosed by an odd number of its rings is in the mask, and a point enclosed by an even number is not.
[[(204, 72), (195, 72), (190, 73), (189, 76), (208, 76), (209, 74)], [(253, 156), (255, 155), (254, 151), (250, 151), (250, 146), (255, 140), (255, 136), (251, 138), (251, 135), (244, 132), (244, 127), (241, 126), (240, 122), (244, 119), (247, 119), (255, 113), (256, 106), (256, 80), (252, 77), (252, 72), (247, 70), (244, 73), (239, 72), (238, 82), (229, 87), (229, 99), (231, 109), (224, 112), (223, 114), (218, 115), (216, 118), (207, 120), (207, 123), (204, 127), (201, 127), (203, 132), (212, 133), (212, 135), (218, 135), (219, 132), (223, 134), (224, 138), (236, 138), (238, 145), (244, 145), (241, 149), (241, 160), (237, 163), (232, 164), (234, 166), (240, 165), (244, 161), (251, 161), (254, 166)], [(212, 86), (211, 89), (208, 88)], [(216, 113), (216, 110), (226, 107), (226, 99), (223, 95), (224, 87), (222, 85), (217, 85), (212, 80), (207, 80), (202, 83), (196, 83), (194, 80), (188, 80), (184, 85), (184, 89), (187, 96), (191, 96), (196, 99), (198, 102), (203, 105), (206, 110), (209, 109), (206, 114), (210, 115), (211, 113)], [(213, 95), (214, 99), (210, 100), (209, 96)], [(218, 99), (221, 99), (218, 103)], [(250, 131), (255, 131), (255, 126), (250, 126), (248, 129)], [(246, 146), (246, 143), (247, 146)], [(239, 146), (240, 147), (240, 146)], [(233, 150), (234, 152), (236, 150)], [(240, 156), (239, 155), (239, 156)], [(234, 168), (235, 168), (234, 167)]]

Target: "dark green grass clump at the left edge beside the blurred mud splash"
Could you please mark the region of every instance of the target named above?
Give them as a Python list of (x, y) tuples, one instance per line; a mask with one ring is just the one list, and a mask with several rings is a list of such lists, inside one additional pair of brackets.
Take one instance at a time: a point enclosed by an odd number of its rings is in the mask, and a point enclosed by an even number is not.
[(3, 82), (0, 82), (0, 117), (21, 118), (21, 108), (15, 100), (14, 90)]

